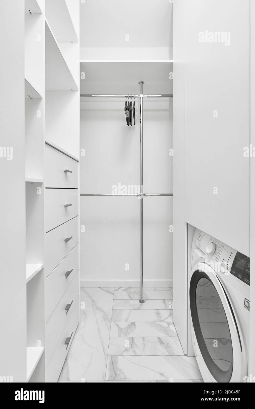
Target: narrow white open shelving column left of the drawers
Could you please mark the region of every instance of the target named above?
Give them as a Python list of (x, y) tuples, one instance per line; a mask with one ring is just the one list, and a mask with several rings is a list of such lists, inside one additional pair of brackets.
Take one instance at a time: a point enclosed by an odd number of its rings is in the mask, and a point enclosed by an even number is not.
[(43, 158), (45, 140), (44, 0), (25, 1), (25, 186), (27, 382), (43, 382)]

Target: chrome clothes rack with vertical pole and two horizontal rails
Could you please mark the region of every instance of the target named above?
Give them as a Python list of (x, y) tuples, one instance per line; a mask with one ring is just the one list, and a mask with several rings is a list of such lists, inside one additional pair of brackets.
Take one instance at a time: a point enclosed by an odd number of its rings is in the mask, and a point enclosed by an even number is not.
[[(138, 98), (140, 99), (140, 187), (143, 189), (143, 99), (144, 98), (172, 98), (173, 94), (143, 94), (144, 81), (139, 82), (140, 94), (80, 94), (80, 98), (90, 98), (90, 97), (105, 97), (105, 98)], [(143, 198), (146, 196), (173, 196), (173, 193), (141, 193), (124, 194), (124, 195), (114, 195), (113, 193), (81, 193), (80, 196), (131, 196), (140, 197), (140, 303), (144, 303), (143, 298)]]

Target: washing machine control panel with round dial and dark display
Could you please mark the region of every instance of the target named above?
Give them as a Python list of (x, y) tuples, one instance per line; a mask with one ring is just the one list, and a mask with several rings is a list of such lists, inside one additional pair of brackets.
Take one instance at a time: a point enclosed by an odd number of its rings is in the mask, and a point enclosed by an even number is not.
[(250, 285), (250, 258), (248, 256), (237, 252), (203, 231), (196, 236), (194, 245), (202, 250), (208, 264), (215, 272), (220, 273), (233, 285), (239, 284), (241, 291), (248, 290), (246, 288)]

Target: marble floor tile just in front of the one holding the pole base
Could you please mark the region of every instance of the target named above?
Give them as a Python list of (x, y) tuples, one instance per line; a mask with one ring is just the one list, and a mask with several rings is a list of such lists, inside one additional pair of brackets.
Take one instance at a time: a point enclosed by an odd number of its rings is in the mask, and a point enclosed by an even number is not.
[(113, 310), (112, 322), (173, 321), (173, 310)]

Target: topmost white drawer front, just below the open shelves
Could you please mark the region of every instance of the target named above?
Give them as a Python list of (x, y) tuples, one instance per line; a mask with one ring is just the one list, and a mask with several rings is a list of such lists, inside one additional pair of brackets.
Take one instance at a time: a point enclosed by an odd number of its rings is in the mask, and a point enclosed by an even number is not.
[(78, 162), (47, 144), (44, 168), (45, 187), (78, 188)]

